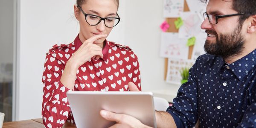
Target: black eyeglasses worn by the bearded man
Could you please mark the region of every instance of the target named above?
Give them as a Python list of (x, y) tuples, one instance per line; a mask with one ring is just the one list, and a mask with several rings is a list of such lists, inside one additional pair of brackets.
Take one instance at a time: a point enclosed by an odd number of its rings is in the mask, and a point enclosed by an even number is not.
[(212, 14), (207, 14), (204, 12), (204, 20), (208, 17), (208, 20), (211, 24), (217, 24), (219, 18), (224, 18), (224, 17), (233, 17), (237, 15), (245, 15), (244, 13), (237, 13), (237, 14), (230, 14), (230, 15), (212, 15)]

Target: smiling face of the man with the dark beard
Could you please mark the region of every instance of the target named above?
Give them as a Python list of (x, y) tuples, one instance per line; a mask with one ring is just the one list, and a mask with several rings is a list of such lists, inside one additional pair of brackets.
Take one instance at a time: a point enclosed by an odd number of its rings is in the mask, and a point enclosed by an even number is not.
[[(238, 12), (232, 9), (232, 3), (232, 1), (209, 0), (207, 14), (236, 14)], [(207, 32), (207, 40), (204, 44), (204, 50), (207, 53), (229, 58), (242, 52), (244, 36), (241, 32), (242, 25), (239, 24), (239, 16), (220, 18), (217, 24), (210, 24), (206, 18), (201, 28)]]

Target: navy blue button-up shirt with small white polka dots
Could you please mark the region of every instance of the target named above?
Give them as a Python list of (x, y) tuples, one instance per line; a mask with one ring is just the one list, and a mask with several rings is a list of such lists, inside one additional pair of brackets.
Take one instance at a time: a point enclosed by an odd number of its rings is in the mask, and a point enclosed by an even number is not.
[(201, 55), (167, 109), (177, 128), (256, 128), (256, 49), (227, 64)]

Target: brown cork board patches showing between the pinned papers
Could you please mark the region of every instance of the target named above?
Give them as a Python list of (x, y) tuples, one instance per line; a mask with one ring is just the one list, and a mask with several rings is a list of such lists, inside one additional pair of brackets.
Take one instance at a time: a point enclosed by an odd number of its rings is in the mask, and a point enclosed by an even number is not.
[[(186, 0), (184, 0), (184, 10), (183, 11), (184, 12), (190, 11)], [(174, 24), (174, 21), (177, 20), (177, 18), (166, 18), (166, 22), (169, 23), (169, 25), (170, 25), (169, 29), (166, 32), (179, 32), (179, 30), (175, 28), (175, 24)], [(189, 47), (188, 59), (191, 59), (193, 47), (194, 46)], [(168, 58), (165, 58), (165, 64), (164, 64), (164, 79), (165, 80), (166, 80), (166, 76), (167, 76), (167, 68), (168, 68)]]

